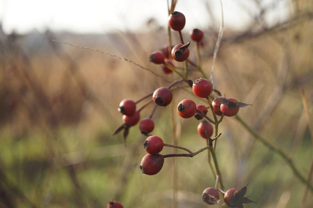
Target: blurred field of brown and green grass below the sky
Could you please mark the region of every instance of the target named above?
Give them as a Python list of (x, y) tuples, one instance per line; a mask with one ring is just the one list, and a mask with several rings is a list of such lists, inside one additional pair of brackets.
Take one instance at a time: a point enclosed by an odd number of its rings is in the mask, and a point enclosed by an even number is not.
[[(312, 162), (312, 135), (305, 119), (312, 118), (312, 26), (311, 15), (293, 26), (235, 42), (230, 40), (236, 34), (225, 31), (215, 69), (216, 89), (252, 103), (240, 110), (241, 118), (284, 150), (305, 178)], [(123, 98), (138, 100), (168, 85), (160, 67), (148, 61), (150, 53), (166, 43), (165, 31), (113, 34), (93, 41), (51, 32), (40, 38), (42, 44), (33, 50), (27, 50), (26, 37), (1, 43), (0, 207), (104, 207), (112, 199), (125, 207), (171, 207), (175, 191), (170, 159), (158, 175), (143, 175), (138, 163), (145, 154), (145, 137), (138, 126), (131, 128), (127, 146), (121, 135), (111, 138), (121, 124), (117, 107)], [(203, 68), (209, 74), (216, 36), (206, 38)], [(127, 58), (163, 78), (131, 62), (53, 39)], [(198, 76), (191, 73), (190, 78)], [(190, 92), (177, 90), (172, 106), (157, 109), (154, 134), (168, 143), (171, 108), (181, 98), (203, 103)], [(142, 113), (147, 116), (150, 108)], [(176, 115), (174, 119), (182, 129), (180, 145), (191, 150), (205, 145), (195, 132), (198, 122)], [(224, 119), (220, 132), (216, 152), (226, 187), (249, 183), (248, 195), (258, 202), (246, 207), (305, 207), (305, 184), (279, 155), (233, 118)], [(200, 194), (215, 180), (207, 155), (178, 158), (175, 168), (178, 207), (205, 207)], [(306, 205), (313, 205), (312, 191)]]

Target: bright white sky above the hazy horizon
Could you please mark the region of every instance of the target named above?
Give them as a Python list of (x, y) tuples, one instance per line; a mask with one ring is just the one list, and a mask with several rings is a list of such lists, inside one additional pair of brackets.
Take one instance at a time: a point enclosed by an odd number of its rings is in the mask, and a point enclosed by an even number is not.
[[(220, 2), (217, 0), (179, 0), (176, 10), (186, 16), (186, 29), (204, 28), (212, 19), (204, 6), (209, 2), (214, 23), (220, 24)], [(289, 0), (260, 0), (262, 5), (279, 1), (277, 10), (266, 15), (269, 23), (286, 19)], [(258, 9), (253, 1), (222, 0), (225, 27), (243, 29)], [(252, 14), (252, 15), (251, 15)], [(144, 31), (148, 18), (166, 26), (166, 0), (0, 0), (0, 22), (5, 33), (53, 31), (74, 33), (111, 33)]]

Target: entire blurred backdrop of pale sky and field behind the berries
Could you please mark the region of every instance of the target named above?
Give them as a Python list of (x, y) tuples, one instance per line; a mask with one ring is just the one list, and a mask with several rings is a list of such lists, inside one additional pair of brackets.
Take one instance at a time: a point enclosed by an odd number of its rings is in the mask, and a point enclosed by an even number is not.
[[(167, 158), (149, 176), (138, 168), (146, 138), (138, 125), (126, 146), (122, 133), (112, 137), (122, 124), (122, 99), (137, 101), (168, 85), (161, 67), (149, 62), (168, 43), (167, 5), (0, 0), (0, 207), (106, 207), (110, 200), (124, 207), (209, 207), (201, 199), (215, 184), (207, 153)], [(186, 16), (184, 40), (193, 28), (204, 31), (202, 65), (209, 76), (220, 3), (179, 0), (176, 10)], [(239, 116), (310, 180), (313, 2), (224, 0), (223, 12), (215, 88), (251, 103)], [(179, 43), (177, 33), (172, 41)], [(195, 44), (190, 50), (197, 62)], [(191, 80), (199, 76), (190, 73)], [(195, 151), (206, 145), (198, 121), (172, 114), (183, 98), (206, 104), (190, 89), (175, 91), (172, 105), (154, 113), (152, 134), (168, 144), (179, 138)], [(247, 196), (257, 203), (245, 207), (313, 207), (312, 191), (289, 164), (235, 118), (224, 118), (220, 132), (216, 154), (225, 189), (249, 184)]]

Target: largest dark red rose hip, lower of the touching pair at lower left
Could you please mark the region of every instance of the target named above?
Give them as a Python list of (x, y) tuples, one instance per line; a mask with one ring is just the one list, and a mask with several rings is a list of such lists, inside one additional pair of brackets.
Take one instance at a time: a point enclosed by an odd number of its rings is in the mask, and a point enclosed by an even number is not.
[(163, 155), (157, 154), (147, 154), (143, 156), (141, 159), (141, 171), (147, 175), (155, 175), (159, 173), (164, 164), (164, 157)]

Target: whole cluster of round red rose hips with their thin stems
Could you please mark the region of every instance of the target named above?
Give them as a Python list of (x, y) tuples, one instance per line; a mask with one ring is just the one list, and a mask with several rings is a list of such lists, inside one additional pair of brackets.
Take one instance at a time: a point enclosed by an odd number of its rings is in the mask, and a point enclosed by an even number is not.
[[(187, 148), (164, 144), (160, 137), (156, 135), (149, 135), (154, 130), (154, 121), (152, 120), (152, 115), (154, 114), (156, 107), (166, 107), (172, 103), (172, 87), (177, 87), (179, 84), (187, 83), (187, 87), (192, 88), (192, 92), (195, 96), (198, 96), (198, 98), (204, 98), (208, 102), (208, 106), (202, 104), (196, 105), (196, 103), (191, 99), (183, 99), (177, 105), (177, 114), (184, 119), (195, 117), (195, 119), (200, 121), (197, 127), (198, 135), (204, 139), (207, 139), (208, 143), (205, 149), (211, 148), (210, 150), (212, 151), (214, 151), (212, 147), (213, 141), (219, 137), (218, 132), (215, 132), (216, 137), (211, 139), (211, 136), (214, 133), (213, 125), (217, 127), (218, 123), (223, 120), (224, 116), (235, 116), (239, 112), (240, 107), (249, 105), (238, 102), (235, 98), (226, 98), (225, 96), (221, 96), (220, 93), (214, 89), (211, 81), (207, 78), (197, 78), (192, 81), (188, 79), (188, 70), (186, 70), (187, 73), (185, 76), (182, 76), (182, 73), (179, 73), (178, 68), (175, 67), (175, 64), (173, 64), (172, 60), (187, 63), (190, 53), (188, 46), (191, 44), (191, 41), (189, 41), (187, 44), (184, 44), (181, 33), (185, 23), (186, 18), (181, 12), (172, 12), (168, 19), (168, 26), (172, 28), (173, 31), (178, 31), (181, 43), (175, 46), (164, 45), (160, 51), (154, 51), (150, 55), (150, 62), (153, 62), (154, 64), (161, 64), (163, 73), (168, 74), (174, 72), (182, 79), (175, 80), (173, 83), (168, 85), (168, 87), (159, 87), (155, 89), (154, 92), (144, 96), (139, 101), (135, 102), (131, 99), (125, 99), (120, 102), (120, 106), (118, 107), (118, 110), (123, 114), (122, 125), (113, 132), (113, 135), (120, 132), (120, 130), (125, 130), (124, 138), (126, 139), (129, 128), (136, 125), (136, 123), (140, 121), (141, 110), (144, 107), (147, 107), (147, 105), (150, 103), (154, 103), (154, 108), (152, 109), (150, 116), (143, 119), (139, 124), (140, 131), (143, 133), (143, 135), (147, 136), (147, 139), (143, 143), (143, 147), (145, 148), (147, 154), (141, 159), (140, 164), (141, 171), (147, 175), (155, 175), (159, 173), (163, 167), (164, 159), (166, 157), (193, 157), (194, 155), (204, 150), (204, 148), (202, 148), (202, 150), (193, 153)], [(189, 36), (193, 42), (199, 45), (203, 40), (204, 33), (198, 28), (195, 28), (190, 31)], [(202, 73), (202, 75), (204, 75), (204, 73)], [(182, 86), (178, 86), (177, 89), (181, 87)], [(215, 95), (216, 93), (218, 96)], [(147, 98), (147, 102), (140, 109), (137, 109), (136, 105), (145, 98)], [(213, 99), (213, 101), (211, 101), (211, 99)], [(207, 116), (208, 110), (211, 110), (214, 119), (210, 119), (209, 116)], [(220, 116), (219, 119), (218, 116)], [(182, 150), (186, 150), (188, 154), (161, 155), (160, 153), (164, 146), (180, 148)], [(216, 178), (218, 179), (219, 177)], [(217, 187), (217, 184), (218, 182), (216, 182), (215, 187), (209, 187), (202, 193), (202, 200), (208, 205), (214, 205), (218, 203), (220, 201), (220, 194), (223, 194), (224, 202), (229, 207), (242, 207), (243, 203), (252, 202), (251, 200), (248, 200), (248, 198), (244, 197), (246, 194), (246, 187), (243, 187), (241, 190), (229, 189), (227, 191), (223, 191)]]

